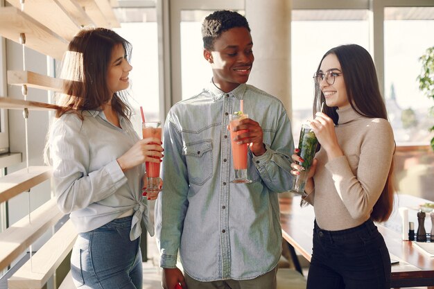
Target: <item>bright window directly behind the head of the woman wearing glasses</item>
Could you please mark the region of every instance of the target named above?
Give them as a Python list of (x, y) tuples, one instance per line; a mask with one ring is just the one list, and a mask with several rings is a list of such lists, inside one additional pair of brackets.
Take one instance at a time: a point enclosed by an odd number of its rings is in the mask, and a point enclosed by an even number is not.
[(341, 44), (359, 44), (369, 50), (367, 10), (293, 10), (291, 23), (291, 73), (293, 135), (312, 119), (313, 73), (322, 55)]

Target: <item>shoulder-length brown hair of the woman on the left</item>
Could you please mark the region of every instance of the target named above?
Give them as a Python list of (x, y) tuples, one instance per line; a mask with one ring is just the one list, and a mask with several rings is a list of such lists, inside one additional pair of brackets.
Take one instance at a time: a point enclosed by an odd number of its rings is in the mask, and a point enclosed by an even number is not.
[(99, 110), (111, 99), (114, 111), (130, 119), (132, 110), (126, 100), (127, 91), (112, 94), (107, 85), (108, 64), (118, 44), (123, 46), (129, 58), (130, 42), (113, 30), (85, 28), (73, 37), (62, 60), (60, 78), (64, 82), (58, 100), (62, 108), (56, 112), (56, 117), (72, 112), (83, 120), (83, 111)]

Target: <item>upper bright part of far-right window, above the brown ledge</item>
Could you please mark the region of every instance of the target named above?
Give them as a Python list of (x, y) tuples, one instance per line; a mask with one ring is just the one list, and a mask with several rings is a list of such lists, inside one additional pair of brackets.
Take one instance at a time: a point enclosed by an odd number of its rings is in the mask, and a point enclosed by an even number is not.
[[(399, 146), (428, 144), (434, 124), (432, 99), (419, 90), (419, 58), (434, 45), (434, 8), (384, 9), (385, 100)], [(430, 19), (431, 18), (431, 19)], [(399, 33), (397, 33), (399, 31)]]

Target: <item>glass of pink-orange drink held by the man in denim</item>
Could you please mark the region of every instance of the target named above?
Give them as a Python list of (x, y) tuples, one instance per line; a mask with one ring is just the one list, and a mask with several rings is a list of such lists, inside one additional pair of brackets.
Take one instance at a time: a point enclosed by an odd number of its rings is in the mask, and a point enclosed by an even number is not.
[(232, 162), (234, 164), (235, 179), (232, 183), (251, 183), (252, 181), (247, 177), (247, 156), (248, 156), (248, 144), (238, 144), (234, 141), (234, 137), (247, 132), (247, 130), (237, 130), (234, 132), (232, 129), (238, 125), (241, 119), (248, 119), (248, 114), (242, 112), (234, 112), (229, 115), (229, 129), (231, 132), (231, 147), (232, 147)]

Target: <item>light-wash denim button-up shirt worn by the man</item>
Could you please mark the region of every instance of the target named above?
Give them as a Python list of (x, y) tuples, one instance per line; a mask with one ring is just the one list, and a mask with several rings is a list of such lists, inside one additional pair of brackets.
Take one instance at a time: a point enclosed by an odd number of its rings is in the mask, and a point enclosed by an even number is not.
[[(263, 130), (266, 152), (248, 152), (251, 184), (232, 184), (229, 114), (240, 110)], [(277, 265), (281, 227), (277, 193), (293, 182), (293, 137), (281, 101), (251, 85), (224, 93), (212, 83), (174, 105), (164, 127), (163, 191), (156, 203), (162, 268), (199, 281), (253, 279)]]

